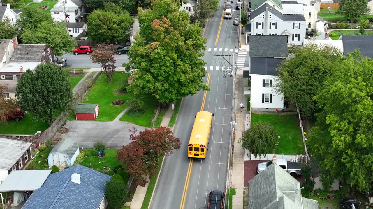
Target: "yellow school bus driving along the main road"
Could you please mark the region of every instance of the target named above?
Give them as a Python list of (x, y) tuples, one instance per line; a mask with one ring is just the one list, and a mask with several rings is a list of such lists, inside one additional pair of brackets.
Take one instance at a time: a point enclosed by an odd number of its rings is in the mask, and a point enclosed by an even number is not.
[(195, 115), (192, 134), (188, 143), (188, 158), (206, 158), (213, 116), (213, 113), (207, 111), (197, 112)]

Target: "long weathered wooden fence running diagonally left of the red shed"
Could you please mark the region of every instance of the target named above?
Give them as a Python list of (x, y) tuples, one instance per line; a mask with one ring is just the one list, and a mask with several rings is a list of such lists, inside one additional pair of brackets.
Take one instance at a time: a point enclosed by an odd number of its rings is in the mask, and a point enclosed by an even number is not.
[[(86, 78), (85, 81), (82, 83), (82, 86), (75, 91), (73, 100), (69, 104), (69, 107), (71, 109), (74, 109), (76, 104), (80, 103), (84, 99), (85, 94), (91, 87), (91, 83), (94, 84), (97, 78), (100, 77), (100, 74), (101, 73), (98, 73), (96, 76)], [(56, 135), (57, 129), (60, 128), (60, 126), (65, 122), (65, 119), (69, 116), (69, 114), (69, 110), (67, 110), (66, 112), (62, 112), (49, 126), (49, 128), (47, 128), (47, 130), (43, 132), (43, 134), (39, 138), (39, 142), (44, 143), (44, 141), (49, 140), (54, 135)]]

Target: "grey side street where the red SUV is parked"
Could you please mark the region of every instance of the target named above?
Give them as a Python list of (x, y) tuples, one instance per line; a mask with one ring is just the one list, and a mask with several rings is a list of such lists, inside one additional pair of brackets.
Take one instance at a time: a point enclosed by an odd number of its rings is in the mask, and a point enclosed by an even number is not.
[[(59, 60), (61, 58), (68, 59), (68, 66), (67, 67), (76, 67), (76, 68), (94, 68), (94, 67), (101, 67), (99, 64), (92, 63), (90, 60), (90, 55), (87, 54), (64, 54), (62, 57), (58, 57)], [(126, 54), (115, 54), (114, 59), (116, 60), (117, 67), (122, 67), (122, 62), (128, 62), (128, 57)]]

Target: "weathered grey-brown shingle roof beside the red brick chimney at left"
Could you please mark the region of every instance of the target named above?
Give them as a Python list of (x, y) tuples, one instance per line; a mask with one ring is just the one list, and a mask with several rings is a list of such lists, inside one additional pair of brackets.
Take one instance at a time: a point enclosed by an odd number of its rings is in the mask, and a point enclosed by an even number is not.
[(45, 44), (17, 44), (11, 62), (40, 62)]

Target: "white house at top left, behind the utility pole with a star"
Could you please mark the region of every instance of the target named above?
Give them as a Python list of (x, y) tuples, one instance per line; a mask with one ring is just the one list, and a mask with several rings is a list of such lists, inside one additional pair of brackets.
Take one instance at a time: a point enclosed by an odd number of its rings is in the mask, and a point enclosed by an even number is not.
[[(65, 4), (65, 10), (63, 4)], [(81, 22), (84, 17), (84, 9), (84, 2), (81, 0), (60, 0), (50, 10), (50, 14), (57, 22), (65, 22), (65, 13), (69, 15), (66, 18), (68, 22)]]

